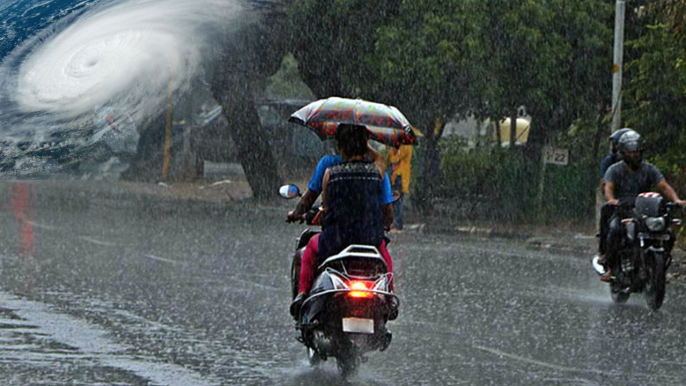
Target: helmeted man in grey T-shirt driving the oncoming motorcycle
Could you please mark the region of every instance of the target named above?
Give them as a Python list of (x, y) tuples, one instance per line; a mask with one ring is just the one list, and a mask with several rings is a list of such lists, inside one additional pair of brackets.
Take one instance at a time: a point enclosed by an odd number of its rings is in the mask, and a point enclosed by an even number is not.
[[(622, 162), (610, 166), (604, 177), (604, 193), (608, 205), (616, 207), (620, 200), (633, 202), (636, 196), (650, 191), (654, 186), (677, 205), (682, 207), (686, 205), (686, 201), (679, 199), (662, 173), (652, 164), (643, 161), (643, 141), (637, 132), (630, 130), (622, 134), (619, 138), (618, 150)], [(624, 237), (625, 230), (621, 220), (619, 213), (615, 210), (609, 221), (608, 262), (616, 258), (616, 251)], [(612, 277), (611, 264), (606, 264), (606, 266), (605, 274), (600, 277), (600, 280), (609, 282)]]

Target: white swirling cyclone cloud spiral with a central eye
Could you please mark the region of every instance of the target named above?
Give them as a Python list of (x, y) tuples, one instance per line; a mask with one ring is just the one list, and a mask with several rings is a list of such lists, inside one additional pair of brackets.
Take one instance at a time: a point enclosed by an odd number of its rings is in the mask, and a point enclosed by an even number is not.
[(240, 13), (236, 0), (96, 2), (0, 65), (0, 131), (35, 137), (103, 107), (134, 121), (158, 116), (170, 87), (177, 95), (189, 87)]

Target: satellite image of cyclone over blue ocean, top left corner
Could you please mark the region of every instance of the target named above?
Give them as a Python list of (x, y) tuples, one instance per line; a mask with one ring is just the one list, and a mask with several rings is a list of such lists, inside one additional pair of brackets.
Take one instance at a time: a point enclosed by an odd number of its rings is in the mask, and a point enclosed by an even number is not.
[(0, 178), (125, 169), (140, 131), (163, 114), (169, 90), (189, 90), (208, 37), (234, 9), (213, 0), (1, 0)]

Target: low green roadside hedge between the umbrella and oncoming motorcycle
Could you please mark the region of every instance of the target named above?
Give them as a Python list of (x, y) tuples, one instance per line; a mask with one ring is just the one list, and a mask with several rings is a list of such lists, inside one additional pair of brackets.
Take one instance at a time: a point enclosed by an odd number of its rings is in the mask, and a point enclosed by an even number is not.
[(519, 221), (526, 218), (586, 219), (593, 217), (597, 176), (588, 162), (547, 165), (543, 201), (537, 207), (540, 161), (530, 160), (522, 149), (443, 148), (443, 184), (439, 196), (462, 201), (479, 200), (489, 206), (489, 219)]

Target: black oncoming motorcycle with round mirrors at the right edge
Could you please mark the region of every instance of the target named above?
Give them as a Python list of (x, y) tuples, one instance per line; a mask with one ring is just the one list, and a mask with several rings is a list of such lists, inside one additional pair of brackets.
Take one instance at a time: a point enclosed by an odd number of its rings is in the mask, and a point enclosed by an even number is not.
[[(625, 303), (632, 293), (643, 292), (650, 309), (662, 306), (675, 240), (671, 225), (681, 225), (681, 220), (673, 216), (676, 207), (658, 193), (641, 193), (633, 204), (624, 202), (615, 208), (626, 235), (610, 265), (610, 294), (614, 302)], [(593, 258), (593, 267), (602, 275), (605, 268), (598, 258)]]

